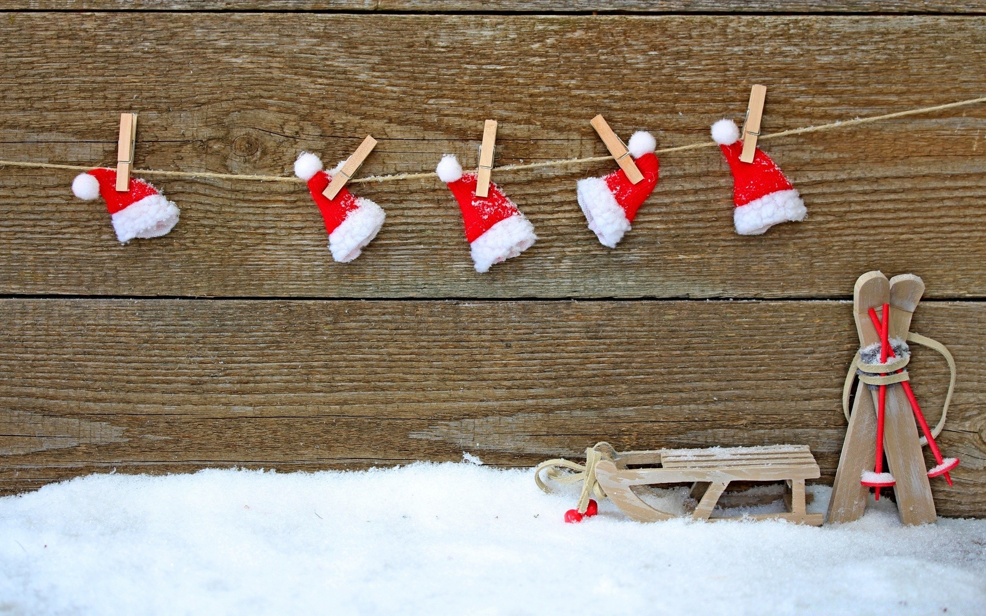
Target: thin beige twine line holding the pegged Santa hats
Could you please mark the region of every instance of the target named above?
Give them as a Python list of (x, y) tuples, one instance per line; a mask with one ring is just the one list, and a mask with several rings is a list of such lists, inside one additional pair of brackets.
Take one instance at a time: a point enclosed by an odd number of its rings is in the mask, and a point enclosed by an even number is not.
[[(919, 107), (916, 109), (906, 109), (904, 111), (896, 111), (894, 113), (884, 113), (882, 115), (871, 115), (869, 117), (856, 117), (850, 120), (839, 120), (835, 122), (829, 122), (828, 124), (819, 124), (818, 126), (805, 126), (802, 128), (792, 128), (791, 130), (782, 130), (776, 133), (767, 133), (760, 135), (758, 140), (763, 141), (765, 139), (776, 139), (778, 137), (788, 137), (791, 135), (802, 135), (805, 133), (821, 132), (825, 130), (834, 130), (837, 128), (849, 128), (851, 126), (859, 126), (860, 124), (868, 124), (871, 122), (879, 122), (881, 120), (893, 119), (896, 117), (905, 117), (907, 115), (920, 115), (923, 113), (931, 113), (933, 111), (941, 111), (944, 109), (951, 109), (954, 107), (965, 106), (968, 104), (976, 103), (986, 103), (986, 97), (980, 97), (978, 99), (967, 99), (965, 101), (956, 101), (954, 103), (936, 104), (934, 106)], [(685, 150), (700, 150), (703, 148), (715, 148), (718, 144), (714, 141), (700, 141), (696, 143), (691, 143), (685, 146), (675, 146), (673, 148), (663, 148), (661, 150), (656, 150), (655, 154), (669, 154), (671, 152), (684, 152)], [(613, 157), (611, 156), (593, 156), (584, 159), (561, 159), (557, 161), (543, 161), (540, 163), (527, 163), (523, 165), (504, 165), (502, 167), (497, 167), (493, 171), (523, 171), (529, 169), (541, 169), (548, 167), (567, 167), (569, 165), (582, 165), (585, 163), (599, 163), (602, 161), (611, 161)], [(30, 163), (24, 161), (0, 161), (0, 167), (21, 167), (21, 168), (31, 168), (31, 169), (64, 169), (71, 171), (90, 171), (92, 167), (84, 167), (81, 165), (58, 165), (55, 163)], [(135, 169), (131, 171), (135, 174), (140, 175), (163, 175), (170, 177), (210, 177), (217, 179), (243, 179), (248, 181), (286, 181), (295, 183), (305, 183), (305, 180), (300, 177), (295, 177), (293, 175), (251, 175), (248, 173), (217, 173), (213, 171), (166, 171), (166, 170), (155, 170), (155, 169)], [(354, 177), (350, 179), (347, 183), (350, 184), (361, 184), (368, 182), (385, 182), (385, 181), (400, 181), (406, 179), (425, 179), (438, 177), (438, 173), (435, 171), (425, 171), (417, 173), (392, 173), (388, 175), (368, 175), (366, 177)]]

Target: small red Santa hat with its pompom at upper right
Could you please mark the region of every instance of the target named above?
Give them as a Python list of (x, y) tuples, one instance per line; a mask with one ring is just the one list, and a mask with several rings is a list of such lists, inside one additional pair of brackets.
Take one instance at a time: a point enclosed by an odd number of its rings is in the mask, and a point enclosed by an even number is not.
[(637, 162), (644, 179), (631, 183), (623, 170), (605, 177), (580, 179), (576, 194), (589, 228), (596, 232), (602, 245), (615, 248), (630, 231), (637, 210), (658, 185), (658, 157), (654, 155), (654, 136), (637, 131), (630, 137), (627, 150)]

